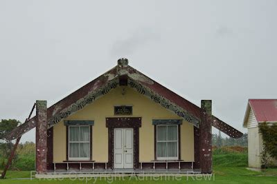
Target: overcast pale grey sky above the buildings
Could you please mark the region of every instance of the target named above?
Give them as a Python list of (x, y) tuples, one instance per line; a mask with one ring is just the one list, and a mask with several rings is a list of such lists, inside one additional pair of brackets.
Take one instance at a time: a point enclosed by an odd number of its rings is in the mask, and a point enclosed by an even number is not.
[(0, 119), (24, 121), (36, 99), (52, 105), (127, 57), (197, 105), (212, 99), (213, 114), (246, 132), (247, 99), (277, 98), (276, 9), (269, 0), (2, 0)]

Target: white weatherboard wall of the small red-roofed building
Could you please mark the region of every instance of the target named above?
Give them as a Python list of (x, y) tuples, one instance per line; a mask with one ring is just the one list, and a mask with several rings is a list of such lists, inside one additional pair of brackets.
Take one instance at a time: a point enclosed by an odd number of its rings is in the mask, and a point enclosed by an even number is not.
[(259, 134), (258, 121), (250, 108), (247, 119), (248, 129), (248, 166), (260, 168), (260, 153), (262, 152), (262, 136)]

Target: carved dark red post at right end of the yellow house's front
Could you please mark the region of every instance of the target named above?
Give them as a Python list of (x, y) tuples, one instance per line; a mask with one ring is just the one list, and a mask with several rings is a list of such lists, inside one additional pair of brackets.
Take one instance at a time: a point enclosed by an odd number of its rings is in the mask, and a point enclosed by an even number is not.
[(212, 101), (202, 100), (200, 123), (200, 166), (202, 173), (212, 172)]

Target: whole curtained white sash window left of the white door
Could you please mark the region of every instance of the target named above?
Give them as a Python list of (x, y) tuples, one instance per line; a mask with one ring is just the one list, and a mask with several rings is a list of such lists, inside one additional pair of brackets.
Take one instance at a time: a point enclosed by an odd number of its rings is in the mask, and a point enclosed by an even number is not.
[(90, 134), (89, 126), (69, 126), (69, 160), (89, 161)]

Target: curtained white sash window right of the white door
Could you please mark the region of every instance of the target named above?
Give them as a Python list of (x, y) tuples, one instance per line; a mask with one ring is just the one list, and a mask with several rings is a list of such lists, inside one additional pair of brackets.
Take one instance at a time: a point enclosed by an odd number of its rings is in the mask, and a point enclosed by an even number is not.
[(178, 159), (178, 125), (157, 125), (157, 159)]

